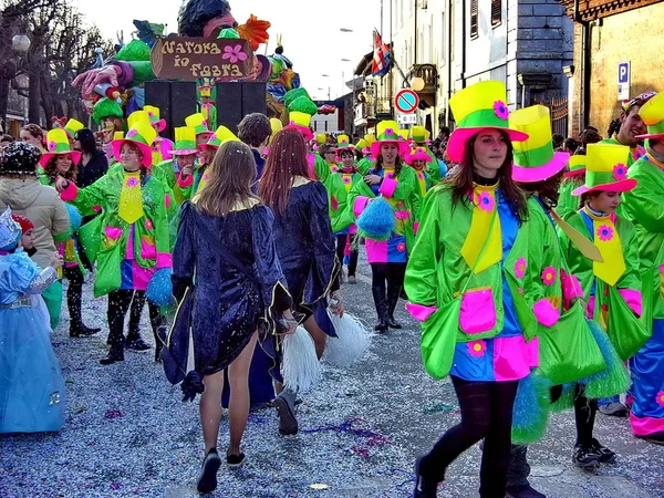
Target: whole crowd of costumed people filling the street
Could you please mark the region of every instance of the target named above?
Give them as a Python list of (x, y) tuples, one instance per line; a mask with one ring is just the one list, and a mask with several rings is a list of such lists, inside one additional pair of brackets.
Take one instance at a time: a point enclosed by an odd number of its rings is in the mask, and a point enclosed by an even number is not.
[(50, 332), (63, 280), (70, 336), (101, 332), (81, 311), (89, 278), (107, 297), (100, 362), (152, 349), (147, 304), (155, 361), (184, 400), (200, 394), (197, 487), (214, 490), (222, 398), (229, 466), (245, 461), (251, 405), (273, 403), (279, 432), (297, 434), (287, 342), (304, 333), (301, 354), (321, 360), (363, 248), (375, 332), (402, 328), (407, 299), (424, 366), (452, 377), (460, 407), (417, 459), (415, 497), (435, 497), (480, 439), (480, 496), (543, 496), (528, 484), (527, 444), (557, 408), (574, 411), (582, 468), (616, 458), (593, 437), (599, 406), (664, 444), (664, 94), (625, 103), (609, 138), (589, 128), (580, 146), (551, 134), (547, 107), (510, 113), (501, 82), (465, 89), (450, 107), (457, 127), (434, 141), (394, 121), (351, 139), (256, 113), (237, 136), (197, 113), (170, 141), (151, 106), (126, 133), (107, 127), (101, 146), (75, 120), (3, 135), (0, 433), (62, 427)]

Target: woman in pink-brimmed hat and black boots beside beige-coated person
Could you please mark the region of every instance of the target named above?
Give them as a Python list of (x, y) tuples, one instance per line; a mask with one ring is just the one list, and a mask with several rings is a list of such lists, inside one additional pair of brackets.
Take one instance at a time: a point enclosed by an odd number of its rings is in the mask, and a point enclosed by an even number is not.
[[(75, 133), (75, 132), (74, 132)], [(40, 176), (42, 185), (55, 187), (59, 178), (76, 181), (77, 164), (81, 153), (70, 147), (70, 141), (63, 128), (53, 128), (46, 134), (46, 152), (42, 154), (40, 165), (44, 174)], [(101, 329), (85, 326), (82, 318), (81, 300), (83, 297), (84, 273), (79, 256), (79, 241), (75, 232), (81, 225), (81, 215), (73, 207), (68, 206), (70, 212), (70, 229), (55, 236), (55, 248), (63, 258), (60, 276), (69, 280), (66, 290), (66, 305), (70, 314), (70, 336), (87, 336), (97, 333)], [(94, 212), (94, 211), (91, 211)]]

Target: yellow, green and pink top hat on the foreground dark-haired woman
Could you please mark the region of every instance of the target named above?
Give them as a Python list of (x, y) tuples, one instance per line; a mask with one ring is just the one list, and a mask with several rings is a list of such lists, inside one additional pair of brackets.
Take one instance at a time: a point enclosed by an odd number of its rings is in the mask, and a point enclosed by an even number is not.
[(455, 93), (449, 107), (457, 122), (447, 143), (447, 155), (455, 163), (464, 158), (466, 142), (486, 128), (507, 133), (511, 142), (528, 138), (523, 132), (509, 127), (507, 91), (500, 81), (483, 81)]

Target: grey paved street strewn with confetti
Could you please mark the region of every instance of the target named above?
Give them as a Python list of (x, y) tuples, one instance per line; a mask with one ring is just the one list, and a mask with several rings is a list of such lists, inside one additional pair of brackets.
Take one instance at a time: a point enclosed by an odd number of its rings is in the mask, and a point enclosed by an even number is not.
[[(347, 309), (373, 324), (369, 267), (357, 286), (344, 286)], [(105, 299), (85, 284), (92, 339), (70, 339), (66, 311), (53, 335), (69, 388), (68, 418), (59, 434), (0, 436), (0, 497), (194, 497), (203, 456), (198, 405), (180, 402), (153, 353), (127, 353), (102, 366)], [(248, 461), (225, 467), (215, 497), (407, 497), (415, 456), (458, 421), (449, 382), (422, 369), (419, 330), (407, 324), (373, 341), (345, 371), (326, 367), (299, 406), (300, 434), (279, 436), (271, 408), (252, 413), (245, 436)], [(147, 317), (144, 319), (147, 323)], [(152, 333), (144, 338), (152, 342)], [(554, 415), (547, 437), (530, 448), (532, 483), (551, 498), (664, 495), (664, 448), (632, 437), (626, 419), (598, 415), (596, 436), (619, 453), (596, 474), (571, 464), (571, 413)], [(220, 453), (228, 442), (222, 423)], [(477, 496), (480, 452), (463, 455), (439, 496)], [(313, 487), (312, 487), (313, 485)], [(325, 485), (326, 489), (314, 489)], [(319, 486), (323, 487), (323, 486)]]

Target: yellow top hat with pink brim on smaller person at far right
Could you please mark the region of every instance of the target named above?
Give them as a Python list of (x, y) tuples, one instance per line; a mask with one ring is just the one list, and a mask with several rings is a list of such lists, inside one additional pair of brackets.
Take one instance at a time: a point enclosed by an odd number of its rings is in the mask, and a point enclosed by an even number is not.
[(613, 144), (588, 144), (585, 148), (585, 185), (572, 190), (573, 196), (589, 191), (630, 191), (635, 179), (627, 179), (630, 147)]

